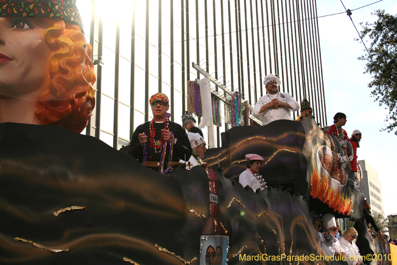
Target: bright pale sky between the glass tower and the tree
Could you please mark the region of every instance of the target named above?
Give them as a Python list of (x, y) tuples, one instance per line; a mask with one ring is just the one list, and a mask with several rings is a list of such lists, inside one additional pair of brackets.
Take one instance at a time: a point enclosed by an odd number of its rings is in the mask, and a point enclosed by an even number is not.
[[(342, 0), (346, 9), (355, 9), (377, 0)], [(352, 11), (351, 18), (361, 31), (359, 22), (375, 21), (371, 12), (384, 9), (389, 14), (397, 14), (396, 0), (383, 0), (378, 3)], [(340, 0), (317, 0), (318, 16), (345, 11)], [(358, 34), (346, 13), (321, 17), (319, 34), (323, 63), (323, 77), (327, 110), (327, 123), (333, 123), (333, 115), (343, 112), (347, 116), (343, 127), (350, 136), (354, 129), (362, 133), (358, 160), (366, 160), (377, 172), (382, 183), (383, 206), (386, 215), (397, 213), (396, 172), (393, 170), (394, 151), (397, 136), (380, 131), (386, 127), (384, 106), (379, 106), (370, 96), (371, 80), (364, 74), (365, 62), (357, 60), (366, 54), (364, 45), (354, 39)], [(365, 41), (365, 39), (364, 39)], [(369, 39), (366, 42), (370, 45)]]

